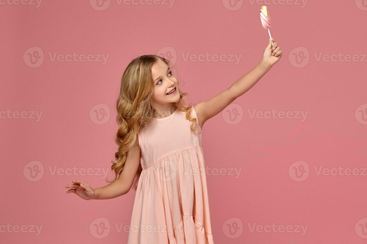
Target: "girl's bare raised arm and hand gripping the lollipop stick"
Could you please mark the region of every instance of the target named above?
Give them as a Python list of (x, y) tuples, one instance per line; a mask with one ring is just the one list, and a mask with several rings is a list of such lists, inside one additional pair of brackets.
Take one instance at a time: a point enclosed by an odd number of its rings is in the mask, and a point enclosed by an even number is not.
[[(275, 41), (274, 38), (272, 38)], [(229, 88), (215, 95), (208, 101), (199, 102), (194, 105), (197, 120), (202, 128), (205, 121), (217, 115), (223, 109), (231, 104), (235, 99), (246, 91), (250, 90), (261, 78), (270, 70), (270, 68), (279, 61), (281, 50), (277, 42), (268, 40), (261, 61), (247, 74), (236, 80)]]

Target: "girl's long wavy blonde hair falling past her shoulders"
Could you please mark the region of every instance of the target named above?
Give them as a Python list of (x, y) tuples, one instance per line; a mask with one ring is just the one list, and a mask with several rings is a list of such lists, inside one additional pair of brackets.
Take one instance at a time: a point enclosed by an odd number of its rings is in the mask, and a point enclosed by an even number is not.
[[(157, 61), (162, 60), (171, 68), (172, 73), (177, 78), (177, 72), (170, 61), (164, 57), (157, 55), (142, 55), (130, 62), (121, 79), (121, 88), (119, 98), (116, 102), (116, 121), (119, 125), (117, 129), (115, 142), (119, 149), (115, 153), (115, 161), (112, 162), (111, 169), (115, 170), (115, 179), (106, 180), (107, 182), (115, 181), (119, 174), (124, 170), (127, 153), (134, 145), (137, 134), (149, 125), (153, 120), (154, 109), (152, 106), (153, 77), (152, 66)], [(200, 134), (199, 130), (194, 129), (196, 118), (190, 115), (191, 106), (185, 105), (183, 98), (187, 93), (179, 88), (180, 98), (174, 104), (178, 110), (186, 112), (186, 119), (192, 121), (190, 129), (196, 134)], [(139, 164), (138, 171), (135, 175), (132, 188), (136, 191), (142, 167)]]

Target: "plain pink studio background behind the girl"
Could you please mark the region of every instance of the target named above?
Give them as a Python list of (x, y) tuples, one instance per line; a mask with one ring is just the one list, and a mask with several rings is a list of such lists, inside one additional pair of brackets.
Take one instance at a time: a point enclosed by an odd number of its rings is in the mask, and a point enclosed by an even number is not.
[[(0, 243), (126, 243), (134, 190), (85, 201), (65, 188), (74, 179), (107, 184), (98, 169), (109, 169), (117, 150), (115, 102), (124, 69), (137, 56), (163, 53), (175, 61), (186, 103), (208, 100), (260, 61), (269, 38), (262, 5), (283, 57), (203, 126), (214, 242), (366, 243), (367, 1), (135, 2), (107, 1), (101, 10), (93, 0), (39, 7), (2, 1)], [(38, 67), (27, 60), (34, 50), (43, 51)], [(52, 61), (55, 52), (109, 56), (105, 64)], [(207, 52), (225, 60), (185, 60)], [(339, 52), (356, 61), (318, 60)], [(239, 63), (233, 55), (241, 55)], [(94, 110), (101, 108), (99, 122)], [(251, 117), (272, 109), (293, 117)], [(42, 111), (41, 119), (32, 111)], [(307, 113), (304, 121), (297, 111)], [(37, 179), (29, 175), (33, 161)], [(306, 167), (302, 179), (294, 173), (299, 163)], [(339, 166), (360, 173), (317, 174)], [(93, 173), (65, 173), (73, 167)], [(103, 238), (94, 230), (99, 218), (110, 225)], [(307, 230), (251, 231), (272, 223)], [(42, 226), (40, 233), (32, 226)]]

